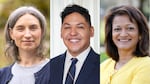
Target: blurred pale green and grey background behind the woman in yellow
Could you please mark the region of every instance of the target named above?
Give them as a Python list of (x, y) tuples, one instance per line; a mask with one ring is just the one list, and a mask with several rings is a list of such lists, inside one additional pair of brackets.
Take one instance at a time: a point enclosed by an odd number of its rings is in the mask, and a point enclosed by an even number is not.
[(150, 26), (150, 0), (100, 0), (100, 61), (103, 62), (108, 56), (104, 47), (104, 16), (107, 11), (117, 5), (132, 5), (141, 10)]

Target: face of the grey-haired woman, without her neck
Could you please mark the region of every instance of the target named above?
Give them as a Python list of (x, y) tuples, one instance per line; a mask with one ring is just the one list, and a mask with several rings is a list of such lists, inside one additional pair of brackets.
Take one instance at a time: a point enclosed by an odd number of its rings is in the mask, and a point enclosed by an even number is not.
[(10, 36), (19, 50), (35, 50), (41, 41), (39, 20), (30, 14), (21, 16), (14, 27), (10, 29)]

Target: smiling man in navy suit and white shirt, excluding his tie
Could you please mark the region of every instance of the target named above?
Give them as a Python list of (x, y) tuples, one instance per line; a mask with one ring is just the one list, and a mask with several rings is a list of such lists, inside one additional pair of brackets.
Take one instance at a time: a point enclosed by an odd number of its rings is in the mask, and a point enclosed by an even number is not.
[(50, 84), (67, 84), (71, 58), (76, 58), (75, 76), (70, 84), (99, 84), (99, 55), (90, 46), (94, 36), (90, 14), (79, 5), (69, 5), (61, 13), (61, 38), (67, 47), (65, 53), (50, 61)]

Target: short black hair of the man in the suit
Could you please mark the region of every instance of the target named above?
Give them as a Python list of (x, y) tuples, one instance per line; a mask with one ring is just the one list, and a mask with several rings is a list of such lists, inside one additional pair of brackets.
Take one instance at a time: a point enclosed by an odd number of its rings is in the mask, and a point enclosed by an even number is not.
[(89, 25), (91, 26), (91, 17), (90, 17), (90, 14), (89, 14), (89, 11), (87, 9), (85, 9), (84, 7), (81, 7), (79, 5), (76, 5), (76, 4), (72, 4), (72, 5), (68, 5), (60, 14), (61, 16), (61, 22), (63, 23), (64, 21), (64, 18), (71, 14), (71, 13), (74, 13), (74, 12), (77, 12), (79, 14), (81, 14), (85, 20), (89, 23)]

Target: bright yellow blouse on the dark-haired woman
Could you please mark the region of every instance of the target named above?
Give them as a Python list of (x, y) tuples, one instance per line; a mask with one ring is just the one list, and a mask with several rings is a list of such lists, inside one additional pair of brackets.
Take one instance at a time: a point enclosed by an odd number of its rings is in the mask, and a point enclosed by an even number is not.
[(119, 70), (115, 61), (107, 59), (100, 65), (100, 84), (150, 84), (150, 57), (133, 57)]

